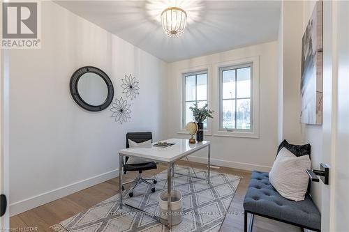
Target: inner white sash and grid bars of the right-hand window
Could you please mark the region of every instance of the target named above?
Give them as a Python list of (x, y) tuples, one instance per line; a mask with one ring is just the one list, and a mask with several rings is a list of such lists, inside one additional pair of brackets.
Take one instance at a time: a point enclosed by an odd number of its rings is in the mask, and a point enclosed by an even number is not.
[[(239, 68), (251, 68), (251, 91), (250, 91), (250, 97), (249, 98), (225, 98), (223, 99), (223, 72), (226, 70), (237, 70)], [(219, 82), (219, 91), (218, 91), (218, 131), (221, 132), (253, 132), (253, 63), (244, 63), (244, 64), (239, 64), (239, 65), (228, 65), (228, 66), (223, 66), (218, 68), (218, 82)], [(237, 79), (237, 72), (235, 71), (235, 79)], [(235, 82), (235, 96), (237, 95), (237, 82)], [(223, 128), (223, 118), (222, 118), (222, 113), (221, 109), (223, 109), (223, 100), (235, 100), (235, 126), (237, 124), (237, 100), (239, 99), (250, 99), (250, 111), (251, 111), (251, 128), (250, 129), (225, 129)]]

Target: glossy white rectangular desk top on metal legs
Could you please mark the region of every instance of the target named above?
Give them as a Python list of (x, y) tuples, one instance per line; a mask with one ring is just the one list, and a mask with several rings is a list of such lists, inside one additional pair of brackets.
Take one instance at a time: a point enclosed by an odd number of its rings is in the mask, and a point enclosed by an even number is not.
[(168, 146), (167, 148), (160, 148), (156, 146), (151, 146), (149, 148), (125, 148), (119, 150), (119, 153), (132, 157), (142, 157), (154, 161), (172, 162), (180, 159), (181, 157), (185, 157), (196, 150), (209, 146), (211, 143), (210, 141), (202, 141), (197, 144), (189, 144), (189, 139), (168, 139), (165, 141), (174, 145)]

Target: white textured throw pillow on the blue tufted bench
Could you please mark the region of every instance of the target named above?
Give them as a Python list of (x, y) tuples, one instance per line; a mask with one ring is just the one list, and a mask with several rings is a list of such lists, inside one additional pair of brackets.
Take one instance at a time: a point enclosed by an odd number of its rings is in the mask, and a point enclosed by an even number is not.
[(269, 172), (269, 181), (286, 199), (303, 201), (309, 181), (306, 169), (310, 168), (309, 155), (297, 157), (287, 148), (282, 148)]

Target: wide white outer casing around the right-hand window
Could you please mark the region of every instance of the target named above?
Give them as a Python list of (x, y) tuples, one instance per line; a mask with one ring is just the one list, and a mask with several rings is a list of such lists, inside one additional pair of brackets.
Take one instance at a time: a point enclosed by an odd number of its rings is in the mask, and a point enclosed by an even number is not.
[[(251, 67), (251, 130), (232, 129), (225, 130), (221, 127), (222, 120), (222, 79), (221, 71), (225, 68)], [(236, 61), (216, 63), (214, 65), (217, 95), (217, 120), (214, 136), (259, 138), (259, 56), (254, 56)]]

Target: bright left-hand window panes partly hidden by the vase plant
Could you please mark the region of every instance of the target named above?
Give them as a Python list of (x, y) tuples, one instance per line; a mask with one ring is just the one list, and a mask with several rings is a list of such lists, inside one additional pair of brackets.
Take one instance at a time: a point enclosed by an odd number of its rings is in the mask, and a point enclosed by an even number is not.
[[(204, 107), (207, 104), (207, 70), (186, 73), (183, 79), (182, 128), (186, 123), (194, 121), (193, 112), (189, 107), (193, 107), (195, 103), (198, 107)], [(207, 120), (204, 121), (204, 128), (207, 129)]]

